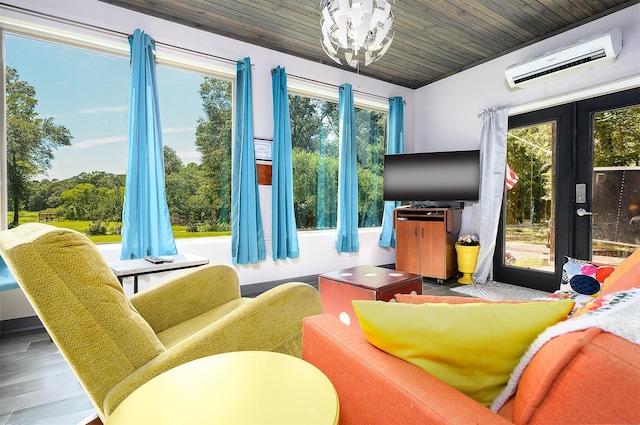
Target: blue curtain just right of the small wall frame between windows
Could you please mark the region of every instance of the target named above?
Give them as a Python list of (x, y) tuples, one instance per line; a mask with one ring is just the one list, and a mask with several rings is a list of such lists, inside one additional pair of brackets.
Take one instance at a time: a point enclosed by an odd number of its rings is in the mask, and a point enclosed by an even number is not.
[(298, 258), (298, 233), (293, 211), (293, 161), (291, 116), (284, 68), (271, 70), (273, 89), (273, 149), (271, 180), (271, 248), (273, 261)]

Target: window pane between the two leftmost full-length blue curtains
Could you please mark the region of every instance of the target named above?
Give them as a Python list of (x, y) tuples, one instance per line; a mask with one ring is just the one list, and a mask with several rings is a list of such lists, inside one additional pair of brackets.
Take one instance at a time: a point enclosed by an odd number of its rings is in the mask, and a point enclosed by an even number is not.
[(158, 66), (165, 186), (174, 236), (229, 234), (230, 81)]

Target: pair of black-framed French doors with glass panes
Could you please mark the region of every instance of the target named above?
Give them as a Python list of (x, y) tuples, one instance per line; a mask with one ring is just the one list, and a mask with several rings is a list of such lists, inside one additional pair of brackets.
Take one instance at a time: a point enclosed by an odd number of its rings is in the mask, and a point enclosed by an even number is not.
[(553, 292), (563, 257), (640, 247), (640, 89), (509, 118), (494, 280)]

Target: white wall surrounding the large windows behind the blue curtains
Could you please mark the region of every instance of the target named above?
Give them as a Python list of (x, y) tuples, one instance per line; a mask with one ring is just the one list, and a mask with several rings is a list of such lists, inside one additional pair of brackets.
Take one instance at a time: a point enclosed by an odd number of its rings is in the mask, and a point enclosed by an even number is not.
[[(159, 56), (163, 49), (162, 44), (184, 47), (189, 50), (233, 60), (249, 56), (254, 65), (252, 80), (254, 133), (256, 137), (272, 137), (273, 135), (270, 70), (280, 65), (286, 67), (287, 75), (290, 77), (290, 87), (301, 87), (305, 84), (292, 78), (292, 76), (300, 76), (334, 86), (351, 83), (356, 92), (354, 96), (356, 103), (359, 99), (365, 102), (371, 102), (372, 100), (385, 102), (384, 99), (372, 99), (371, 97), (359, 95), (359, 93), (381, 96), (382, 98), (402, 96), (407, 102), (405, 110), (405, 139), (411, 140), (413, 138), (412, 102), (414, 91), (404, 87), (134, 13), (96, 0), (8, 0), (4, 1), (4, 3), (124, 34), (131, 34), (136, 28), (141, 28), (158, 42)], [(64, 24), (54, 24), (20, 11), (0, 8), (0, 16), (29, 21), (34, 24), (65, 27)], [(82, 32), (83, 30), (75, 28), (74, 31)], [(123, 43), (126, 43), (126, 40), (123, 39)], [(206, 61), (206, 59), (204, 60)], [(382, 61), (384, 61), (384, 58)], [(220, 62), (215, 62), (213, 66), (218, 68), (226, 66), (228, 69), (233, 70), (232, 74), (235, 75), (235, 64), (221, 65)], [(320, 90), (332, 89), (321, 87)], [(337, 88), (335, 91), (337, 92)], [(363, 229), (360, 231), (360, 252), (356, 254), (336, 253), (335, 231), (303, 232), (299, 234), (300, 257), (295, 260), (274, 262), (271, 259), (271, 186), (260, 186), (260, 202), (267, 260), (255, 265), (236, 266), (243, 285), (319, 274), (361, 264), (381, 265), (395, 262), (394, 250), (378, 247), (380, 229)], [(231, 264), (230, 238), (177, 240), (176, 244), (178, 251), (181, 253), (189, 252), (205, 256), (214, 263)], [(100, 245), (100, 250), (108, 261), (119, 259), (119, 244)], [(164, 277), (166, 275), (154, 275), (148, 279), (142, 279), (140, 287), (144, 288)], [(132, 284), (127, 282), (125, 291), (132, 292), (131, 286)], [(0, 320), (26, 317), (33, 314), (33, 310), (24, 299), (20, 289), (0, 293)]]

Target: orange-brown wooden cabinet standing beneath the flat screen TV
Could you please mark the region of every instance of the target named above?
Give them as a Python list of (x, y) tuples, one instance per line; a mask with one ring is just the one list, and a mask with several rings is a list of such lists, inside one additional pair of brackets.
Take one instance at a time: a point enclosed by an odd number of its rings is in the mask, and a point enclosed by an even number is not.
[(400, 207), (393, 211), (396, 269), (442, 282), (457, 271), (455, 243), (462, 210)]

